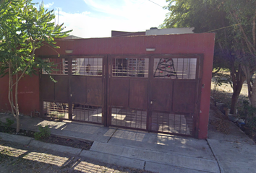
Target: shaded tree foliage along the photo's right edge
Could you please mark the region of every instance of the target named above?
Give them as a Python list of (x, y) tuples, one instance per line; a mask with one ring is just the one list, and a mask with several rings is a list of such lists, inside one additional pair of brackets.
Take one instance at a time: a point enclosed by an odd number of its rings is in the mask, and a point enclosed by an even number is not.
[(234, 32), (233, 50), (247, 79), (248, 97), (256, 107), (256, 1), (226, 0), (221, 4)]

